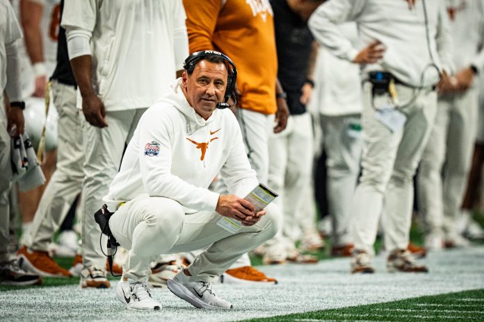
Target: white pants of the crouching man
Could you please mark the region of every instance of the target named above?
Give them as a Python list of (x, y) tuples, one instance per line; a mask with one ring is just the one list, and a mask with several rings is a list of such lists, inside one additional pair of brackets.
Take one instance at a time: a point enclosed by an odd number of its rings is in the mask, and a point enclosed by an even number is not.
[(259, 223), (232, 234), (217, 225), (217, 212), (185, 214), (177, 201), (140, 197), (113, 214), (109, 227), (122, 247), (129, 249), (123, 266), (125, 278), (144, 281), (150, 262), (159, 254), (194, 251), (209, 246), (188, 267), (195, 280), (210, 282), (222, 275), (242, 254), (271, 239), (280, 226), (276, 205), (266, 207)]

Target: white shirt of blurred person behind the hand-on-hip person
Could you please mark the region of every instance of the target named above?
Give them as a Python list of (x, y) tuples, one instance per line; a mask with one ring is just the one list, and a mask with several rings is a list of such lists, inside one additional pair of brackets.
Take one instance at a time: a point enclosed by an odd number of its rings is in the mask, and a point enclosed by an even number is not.
[[(357, 46), (354, 22), (338, 26), (339, 32)], [(313, 104), (321, 115), (359, 114), (362, 111), (360, 67), (334, 56), (325, 46), (318, 49), (314, 72)], [(312, 110), (316, 110), (312, 108)]]

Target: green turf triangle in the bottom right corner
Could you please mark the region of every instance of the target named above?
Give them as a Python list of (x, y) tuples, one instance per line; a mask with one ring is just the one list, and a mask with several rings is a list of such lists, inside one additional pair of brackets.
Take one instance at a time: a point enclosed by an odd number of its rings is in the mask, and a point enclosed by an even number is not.
[(484, 321), (484, 289), (244, 322), (284, 321)]

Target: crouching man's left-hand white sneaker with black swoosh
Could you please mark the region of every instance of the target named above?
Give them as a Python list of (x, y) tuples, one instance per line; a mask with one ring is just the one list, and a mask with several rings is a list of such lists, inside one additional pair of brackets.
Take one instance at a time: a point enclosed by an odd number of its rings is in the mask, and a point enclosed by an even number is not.
[(127, 309), (131, 310), (161, 310), (161, 304), (154, 300), (152, 287), (147, 282), (129, 283), (120, 280), (116, 287), (116, 298)]

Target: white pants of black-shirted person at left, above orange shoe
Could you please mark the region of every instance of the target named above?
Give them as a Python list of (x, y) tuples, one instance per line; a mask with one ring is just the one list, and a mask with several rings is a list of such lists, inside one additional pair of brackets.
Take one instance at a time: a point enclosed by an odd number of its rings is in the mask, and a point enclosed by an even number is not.
[(26, 239), (27, 246), (35, 251), (48, 251), (54, 233), (81, 193), (84, 178), (84, 117), (82, 111), (76, 108), (75, 87), (54, 80), (52, 95), (59, 115), (57, 164), (33, 217), (30, 236)]

